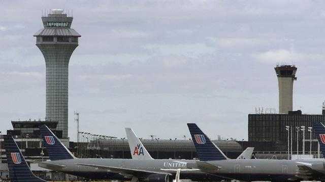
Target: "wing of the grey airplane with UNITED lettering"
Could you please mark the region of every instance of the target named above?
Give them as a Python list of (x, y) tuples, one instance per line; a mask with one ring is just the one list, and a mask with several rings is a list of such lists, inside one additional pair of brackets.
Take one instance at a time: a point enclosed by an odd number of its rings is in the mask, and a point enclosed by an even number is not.
[(130, 178), (133, 176), (142, 177), (142, 176), (149, 175), (149, 174), (172, 175), (169, 172), (156, 172), (156, 171), (148, 171), (148, 170), (141, 170), (141, 169), (129, 169), (129, 168), (124, 168), (124, 167), (112, 167), (112, 166), (102, 166), (102, 165), (82, 164), (82, 163), (76, 163), (76, 165), (107, 169), (108, 172), (119, 173), (121, 175), (124, 175), (125, 177), (130, 177)]

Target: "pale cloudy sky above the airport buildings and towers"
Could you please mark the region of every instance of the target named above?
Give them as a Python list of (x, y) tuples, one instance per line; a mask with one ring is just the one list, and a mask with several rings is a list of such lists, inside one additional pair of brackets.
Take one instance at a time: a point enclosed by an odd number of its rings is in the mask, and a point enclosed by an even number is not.
[(45, 118), (42, 11), (73, 11), (82, 36), (69, 66), (69, 136), (247, 140), (255, 107), (278, 111), (274, 67), (295, 64), (294, 109), (325, 100), (324, 1), (0, 0), (0, 131)]

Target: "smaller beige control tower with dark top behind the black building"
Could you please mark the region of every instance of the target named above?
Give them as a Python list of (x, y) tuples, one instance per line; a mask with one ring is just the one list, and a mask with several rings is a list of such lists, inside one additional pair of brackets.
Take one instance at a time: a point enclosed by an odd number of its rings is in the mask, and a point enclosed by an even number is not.
[(293, 110), (294, 81), (297, 80), (297, 67), (282, 65), (274, 68), (279, 83), (279, 113), (288, 114)]

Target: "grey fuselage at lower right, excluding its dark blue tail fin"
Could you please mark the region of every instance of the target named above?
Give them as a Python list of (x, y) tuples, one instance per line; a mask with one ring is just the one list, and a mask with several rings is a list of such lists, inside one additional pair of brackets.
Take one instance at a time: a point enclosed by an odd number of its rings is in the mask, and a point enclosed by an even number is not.
[(217, 160), (207, 162), (217, 168), (211, 170), (206, 168), (202, 171), (245, 181), (293, 181), (298, 180), (300, 178), (298, 176), (303, 176), (298, 165), (306, 165), (322, 173), (324, 177), (320, 175), (318, 179), (323, 179), (325, 178), (323, 162), (324, 160)]

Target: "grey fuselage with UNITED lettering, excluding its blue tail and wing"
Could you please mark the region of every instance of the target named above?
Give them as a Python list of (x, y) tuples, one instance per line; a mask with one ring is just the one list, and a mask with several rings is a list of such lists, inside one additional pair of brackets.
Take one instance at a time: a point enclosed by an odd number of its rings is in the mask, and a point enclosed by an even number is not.
[[(135, 170), (146, 170), (153, 172), (176, 174), (175, 169), (188, 169), (187, 165), (196, 165), (195, 160), (172, 160), (172, 159), (155, 159), (155, 160), (139, 160), (139, 159), (66, 159), (56, 161), (46, 161), (39, 163), (40, 167), (56, 170), (72, 175), (82, 176), (91, 179), (117, 179), (130, 180), (132, 176), (127, 174), (112, 172), (104, 168), (96, 168), (78, 164), (89, 164), (98, 166), (110, 166)], [(145, 178), (146, 176), (143, 176)], [(224, 178), (215, 174), (208, 174), (200, 170), (181, 171), (182, 179), (192, 179), (197, 181), (217, 181)]]

